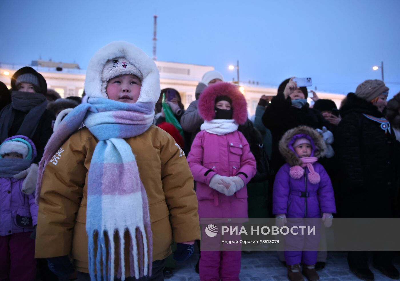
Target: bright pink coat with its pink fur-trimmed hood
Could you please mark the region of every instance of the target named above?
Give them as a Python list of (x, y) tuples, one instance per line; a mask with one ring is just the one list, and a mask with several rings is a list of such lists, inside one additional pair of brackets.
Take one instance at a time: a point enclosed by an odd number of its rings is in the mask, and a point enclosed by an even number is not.
[[(220, 82), (209, 86), (200, 96), (198, 108), (206, 121), (215, 117), (217, 96), (232, 99), (233, 119), (243, 124), (247, 119), (246, 100), (237, 87)], [(256, 161), (243, 134), (234, 131), (225, 135), (201, 131), (196, 135), (188, 155), (188, 163), (196, 180), (199, 217), (247, 217), (246, 184), (256, 173)], [(214, 175), (239, 176), (245, 186), (232, 196), (209, 187)]]

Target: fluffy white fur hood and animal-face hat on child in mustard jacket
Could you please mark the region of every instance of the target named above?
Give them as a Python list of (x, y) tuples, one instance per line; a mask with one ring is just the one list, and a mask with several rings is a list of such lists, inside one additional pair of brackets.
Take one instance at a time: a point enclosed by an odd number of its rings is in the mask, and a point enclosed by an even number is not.
[[(115, 41), (107, 44), (98, 50), (90, 59), (88, 69), (86, 70), (86, 95), (88, 95), (89, 98), (108, 98), (105, 92), (107, 84), (105, 83), (104, 86), (102, 81), (103, 70), (105, 70), (106, 64), (110, 64), (111, 67), (114, 59), (118, 60), (118, 64), (123, 68), (123, 64), (119, 60), (120, 58), (122, 58), (124, 62), (126, 60), (127, 63), (132, 66), (130, 67), (128, 74), (137, 73), (135, 75), (142, 79), (142, 88), (140, 88), (138, 102), (156, 103), (161, 92), (160, 74), (156, 64), (138, 47), (125, 41)], [(135, 72), (136, 69), (138, 72)], [(120, 73), (114, 71), (112, 74), (116, 75), (111, 75), (111, 78), (125, 74), (123, 73), (125, 68)], [(104, 93), (102, 92), (102, 87), (104, 88)]]

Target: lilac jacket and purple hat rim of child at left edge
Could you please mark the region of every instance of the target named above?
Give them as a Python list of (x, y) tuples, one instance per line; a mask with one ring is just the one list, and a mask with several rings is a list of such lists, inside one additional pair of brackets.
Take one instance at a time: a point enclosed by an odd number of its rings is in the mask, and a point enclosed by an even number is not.
[[(36, 147), (25, 136), (7, 138), (23, 138), (32, 146), (32, 159), (36, 157)], [(0, 236), (12, 233), (33, 231), (38, 217), (38, 205), (34, 195), (22, 193), (24, 179), (0, 177)]]

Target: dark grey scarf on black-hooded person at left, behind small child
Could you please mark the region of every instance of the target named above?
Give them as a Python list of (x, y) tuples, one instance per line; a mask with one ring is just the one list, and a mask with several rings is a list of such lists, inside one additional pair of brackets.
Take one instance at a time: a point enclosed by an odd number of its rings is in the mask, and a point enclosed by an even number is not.
[(14, 122), (14, 110), (28, 112), (16, 135), (32, 138), (38, 127), (39, 120), (47, 107), (46, 97), (40, 93), (13, 91), (12, 102), (6, 106), (0, 116), (0, 142), (6, 140)]

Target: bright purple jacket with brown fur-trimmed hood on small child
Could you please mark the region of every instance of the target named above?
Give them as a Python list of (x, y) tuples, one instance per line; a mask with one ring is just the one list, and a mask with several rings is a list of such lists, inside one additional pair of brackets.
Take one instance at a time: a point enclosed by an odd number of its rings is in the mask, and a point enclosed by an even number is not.
[[(287, 163), (276, 173), (272, 213), (286, 214), (286, 217), (321, 217), (322, 213), (336, 213), (332, 183), (320, 163), (312, 164), (314, 170), (320, 175), (319, 183), (310, 182), (308, 179), (310, 171), (307, 167), (304, 167), (305, 175), (299, 179), (294, 179), (289, 174), (290, 167), (302, 163), (292, 147), (299, 137), (306, 137), (311, 141), (311, 156), (317, 158), (324, 156), (326, 145), (322, 136), (314, 129), (299, 126), (284, 134), (279, 142), (279, 150)], [(301, 197), (302, 195), (308, 195), (308, 197)]]

